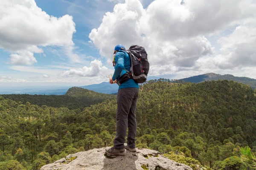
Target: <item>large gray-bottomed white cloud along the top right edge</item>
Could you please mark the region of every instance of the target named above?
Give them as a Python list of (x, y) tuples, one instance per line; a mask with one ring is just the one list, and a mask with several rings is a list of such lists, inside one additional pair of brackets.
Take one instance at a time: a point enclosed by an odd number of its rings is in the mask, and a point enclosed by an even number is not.
[(183, 0), (183, 5), (180, 2), (154, 0), (141, 18), (140, 30), (163, 40), (195, 37), (226, 30), (255, 15), (253, 0)]

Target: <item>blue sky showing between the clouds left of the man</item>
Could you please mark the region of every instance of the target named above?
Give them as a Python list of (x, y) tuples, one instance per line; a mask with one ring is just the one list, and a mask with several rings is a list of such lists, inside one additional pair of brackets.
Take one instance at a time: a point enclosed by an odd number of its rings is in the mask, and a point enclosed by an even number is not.
[[(145, 0), (143, 5), (146, 7), (150, 2), (151, 0)], [(79, 57), (83, 59), (83, 62), (70, 62), (70, 60), (64, 56), (63, 48), (50, 45), (41, 47), (44, 51), (43, 54), (34, 53), (37, 62), (33, 63), (33, 65), (12, 65), (10, 64), (10, 54), (12, 54), (12, 52), (0, 49), (0, 76), (12, 79), (9, 82), (2, 82), (0, 86), (70, 86), (87, 85), (105, 81), (106, 79), (102, 79), (102, 77), (96, 81), (87, 81), (88, 79), (86, 80), (80, 77), (81, 81), (83, 81), (81, 83), (44, 83), (42, 75), (44, 75), (44, 73), (48, 75), (47, 73), (50, 71), (60, 70), (61, 68), (61, 70), (68, 70), (69, 68), (82, 68), (84, 65), (89, 66), (93, 59), (99, 59), (103, 65), (106, 65), (106, 59), (101, 57), (99, 50), (88, 42), (90, 40), (88, 36), (93, 28), (99, 27), (105, 12), (113, 11), (113, 7), (116, 3), (109, 2), (108, 0), (35, 0), (35, 3), (42, 11), (45, 11), (50, 16), (58, 18), (68, 14), (73, 17), (73, 21), (76, 24), (76, 32), (73, 34), (73, 42), (75, 44), (73, 52), (78, 54)], [(26, 18), (24, 18), (24, 20), (26, 20)], [(109, 65), (106, 66), (112, 69), (109, 72), (112, 73), (113, 68), (109, 67)], [(16, 79), (28, 80), (28, 82), (16, 82)], [(39, 82), (35, 83), (35, 81)]]

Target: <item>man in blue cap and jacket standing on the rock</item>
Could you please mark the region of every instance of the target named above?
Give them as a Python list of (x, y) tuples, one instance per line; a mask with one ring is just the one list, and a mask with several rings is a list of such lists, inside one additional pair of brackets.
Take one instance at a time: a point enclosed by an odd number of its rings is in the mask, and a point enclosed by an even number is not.
[[(131, 59), (127, 52), (124, 51), (124, 45), (116, 45), (113, 64), (115, 71), (113, 77), (110, 79), (110, 83), (116, 80), (130, 71)], [(117, 93), (117, 112), (116, 112), (116, 137), (114, 139), (113, 147), (106, 147), (106, 153), (109, 155), (124, 155), (125, 149), (131, 152), (136, 151), (135, 138), (137, 130), (136, 122), (136, 105), (139, 93), (139, 84), (133, 79), (128, 79), (119, 85)], [(126, 130), (128, 127), (127, 143), (125, 143)]]

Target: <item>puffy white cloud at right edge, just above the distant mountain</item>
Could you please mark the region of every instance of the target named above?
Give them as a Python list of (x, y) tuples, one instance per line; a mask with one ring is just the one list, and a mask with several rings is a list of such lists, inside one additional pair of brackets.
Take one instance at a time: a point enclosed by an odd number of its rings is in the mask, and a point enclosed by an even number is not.
[(253, 67), (256, 65), (256, 21), (237, 26), (227, 37), (221, 37), (221, 54), (214, 59), (221, 69)]

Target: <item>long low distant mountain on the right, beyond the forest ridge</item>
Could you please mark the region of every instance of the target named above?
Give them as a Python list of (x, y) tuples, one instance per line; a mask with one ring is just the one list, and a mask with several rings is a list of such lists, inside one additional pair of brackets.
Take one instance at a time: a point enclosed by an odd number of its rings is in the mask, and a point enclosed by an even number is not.
[(184, 78), (184, 79), (180, 79), (183, 80), (185, 82), (195, 82), (195, 83), (199, 83), (199, 82), (204, 82), (204, 81), (211, 81), (211, 80), (233, 80), (235, 82), (241, 82), (244, 83), (246, 85), (250, 85), (251, 88), (255, 89), (256, 88), (256, 79), (251, 79), (248, 77), (235, 77), (231, 74), (215, 74), (215, 73), (207, 73), (207, 74), (201, 74), (198, 76), (193, 76), (193, 77), (188, 77), (188, 78)]

